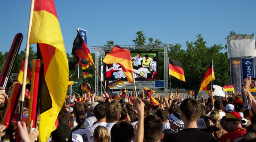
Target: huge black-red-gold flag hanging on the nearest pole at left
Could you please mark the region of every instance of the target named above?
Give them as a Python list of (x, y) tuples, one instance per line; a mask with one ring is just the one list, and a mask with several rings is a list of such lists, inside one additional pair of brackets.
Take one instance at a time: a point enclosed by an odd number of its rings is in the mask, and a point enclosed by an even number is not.
[(29, 43), (37, 43), (37, 53), (43, 61), (39, 80), (39, 142), (46, 142), (56, 129), (55, 121), (69, 81), (67, 55), (53, 0), (35, 0)]

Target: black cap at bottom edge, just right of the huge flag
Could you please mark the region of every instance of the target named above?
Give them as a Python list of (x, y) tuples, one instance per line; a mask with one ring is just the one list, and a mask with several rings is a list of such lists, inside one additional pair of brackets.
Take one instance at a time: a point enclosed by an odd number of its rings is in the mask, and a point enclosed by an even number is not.
[(72, 130), (64, 123), (59, 123), (57, 129), (51, 133), (54, 142), (72, 142)]

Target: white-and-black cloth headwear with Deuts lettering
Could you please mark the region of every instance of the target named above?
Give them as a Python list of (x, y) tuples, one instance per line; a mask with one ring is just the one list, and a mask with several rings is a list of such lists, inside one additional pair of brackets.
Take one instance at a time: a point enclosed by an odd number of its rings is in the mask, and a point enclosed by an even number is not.
[(184, 128), (184, 122), (181, 120), (180, 111), (174, 111), (171, 115), (166, 116), (167, 119), (180, 129)]

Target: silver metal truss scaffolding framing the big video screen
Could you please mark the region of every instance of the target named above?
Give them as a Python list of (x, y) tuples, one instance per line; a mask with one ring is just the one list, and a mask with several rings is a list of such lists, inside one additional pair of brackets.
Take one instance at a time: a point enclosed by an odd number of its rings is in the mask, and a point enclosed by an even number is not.
[[(165, 96), (168, 95), (168, 47), (172, 47), (173, 44), (162, 44), (162, 45), (124, 45), (120, 46), (123, 49), (128, 50), (159, 50), (163, 49), (164, 52), (158, 52), (159, 55), (164, 55), (164, 74), (165, 74)], [(99, 53), (105, 55), (105, 51), (111, 51), (114, 46), (91, 46), (91, 49), (95, 50), (95, 67), (99, 72)], [(160, 73), (160, 72), (159, 72)], [(95, 71), (95, 93), (99, 95), (99, 78)]]

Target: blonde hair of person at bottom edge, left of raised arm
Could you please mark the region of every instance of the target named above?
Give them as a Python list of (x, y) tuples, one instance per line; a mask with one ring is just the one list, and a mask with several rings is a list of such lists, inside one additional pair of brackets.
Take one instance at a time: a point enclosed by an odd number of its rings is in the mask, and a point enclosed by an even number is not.
[(93, 141), (97, 138), (100, 142), (109, 142), (109, 130), (104, 126), (97, 126), (93, 131)]

